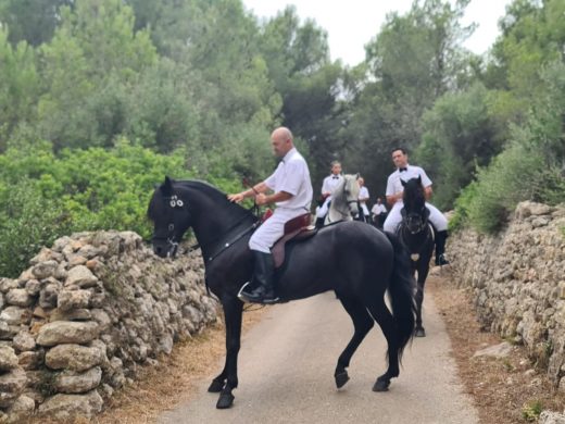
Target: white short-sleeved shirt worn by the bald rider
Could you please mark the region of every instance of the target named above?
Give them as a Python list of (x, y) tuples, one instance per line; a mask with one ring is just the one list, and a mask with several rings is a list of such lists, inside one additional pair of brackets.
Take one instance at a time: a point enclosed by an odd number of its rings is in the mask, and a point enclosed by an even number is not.
[(306, 161), (296, 148), (285, 154), (275, 172), (265, 179), (265, 184), (275, 192), (292, 195), (290, 199), (277, 202), (278, 208), (310, 211), (313, 195), (310, 171)]

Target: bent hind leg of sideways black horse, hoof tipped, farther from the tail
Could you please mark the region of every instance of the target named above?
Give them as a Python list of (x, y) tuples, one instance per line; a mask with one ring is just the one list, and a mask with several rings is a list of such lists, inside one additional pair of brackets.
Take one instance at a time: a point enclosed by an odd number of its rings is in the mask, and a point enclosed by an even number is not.
[(369, 329), (375, 325), (373, 319), (367, 313), (365, 305), (357, 300), (343, 296), (342, 294), (337, 294), (341, 304), (346, 309), (346, 311), (351, 316), (354, 326), (353, 337), (350, 342), (341, 352), (338, 359), (338, 364), (336, 366), (336, 372), (334, 374), (336, 378), (336, 386), (338, 388), (343, 387), (346, 383), (349, 381), (348, 371), (346, 370), (349, 366), (351, 358), (355, 350), (357, 349), (361, 341), (365, 338)]

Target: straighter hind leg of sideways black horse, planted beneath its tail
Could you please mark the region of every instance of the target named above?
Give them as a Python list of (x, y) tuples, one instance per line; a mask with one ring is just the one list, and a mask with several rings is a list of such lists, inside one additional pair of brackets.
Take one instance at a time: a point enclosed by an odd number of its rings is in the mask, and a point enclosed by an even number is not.
[(375, 319), (375, 321), (382, 329), (382, 334), (387, 339), (388, 344), (388, 369), (387, 372), (380, 375), (375, 385), (373, 386), (373, 391), (387, 391), (390, 386), (390, 378), (398, 377), (400, 373), (399, 367), (399, 340), (397, 337), (397, 329), (394, 319), (390, 313), (387, 304), (385, 303), (384, 297), (377, 298), (375, 300), (371, 299), (367, 302), (367, 309), (371, 312), (371, 315)]

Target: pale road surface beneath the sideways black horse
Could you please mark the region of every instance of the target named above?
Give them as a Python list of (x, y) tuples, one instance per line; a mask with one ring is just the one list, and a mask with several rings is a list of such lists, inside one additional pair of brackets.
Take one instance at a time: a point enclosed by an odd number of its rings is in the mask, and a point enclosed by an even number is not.
[(430, 297), (424, 323), (428, 336), (406, 349), (390, 391), (371, 390), (386, 369), (386, 342), (378, 327), (353, 357), (351, 381), (337, 390), (334, 369), (353, 328), (339, 301), (328, 292), (272, 307), (243, 338), (234, 407), (215, 409), (217, 395), (206, 392), (211, 375), (198, 396), (158, 422), (478, 423), (470, 399), (462, 394), (449, 338)]

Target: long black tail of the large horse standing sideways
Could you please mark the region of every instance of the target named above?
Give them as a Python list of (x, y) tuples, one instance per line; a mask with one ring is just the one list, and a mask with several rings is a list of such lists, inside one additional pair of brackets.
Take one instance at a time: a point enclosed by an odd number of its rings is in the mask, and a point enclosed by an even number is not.
[(407, 342), (414, 337), (414, 327), (416, 325), (416, 283), (412, 274), (407, 251), (394, 234), (386, 232), (385, 234), (394, 249), (394, 265), (388, 290), (399, 336), (398, 353), (400, 360)]

